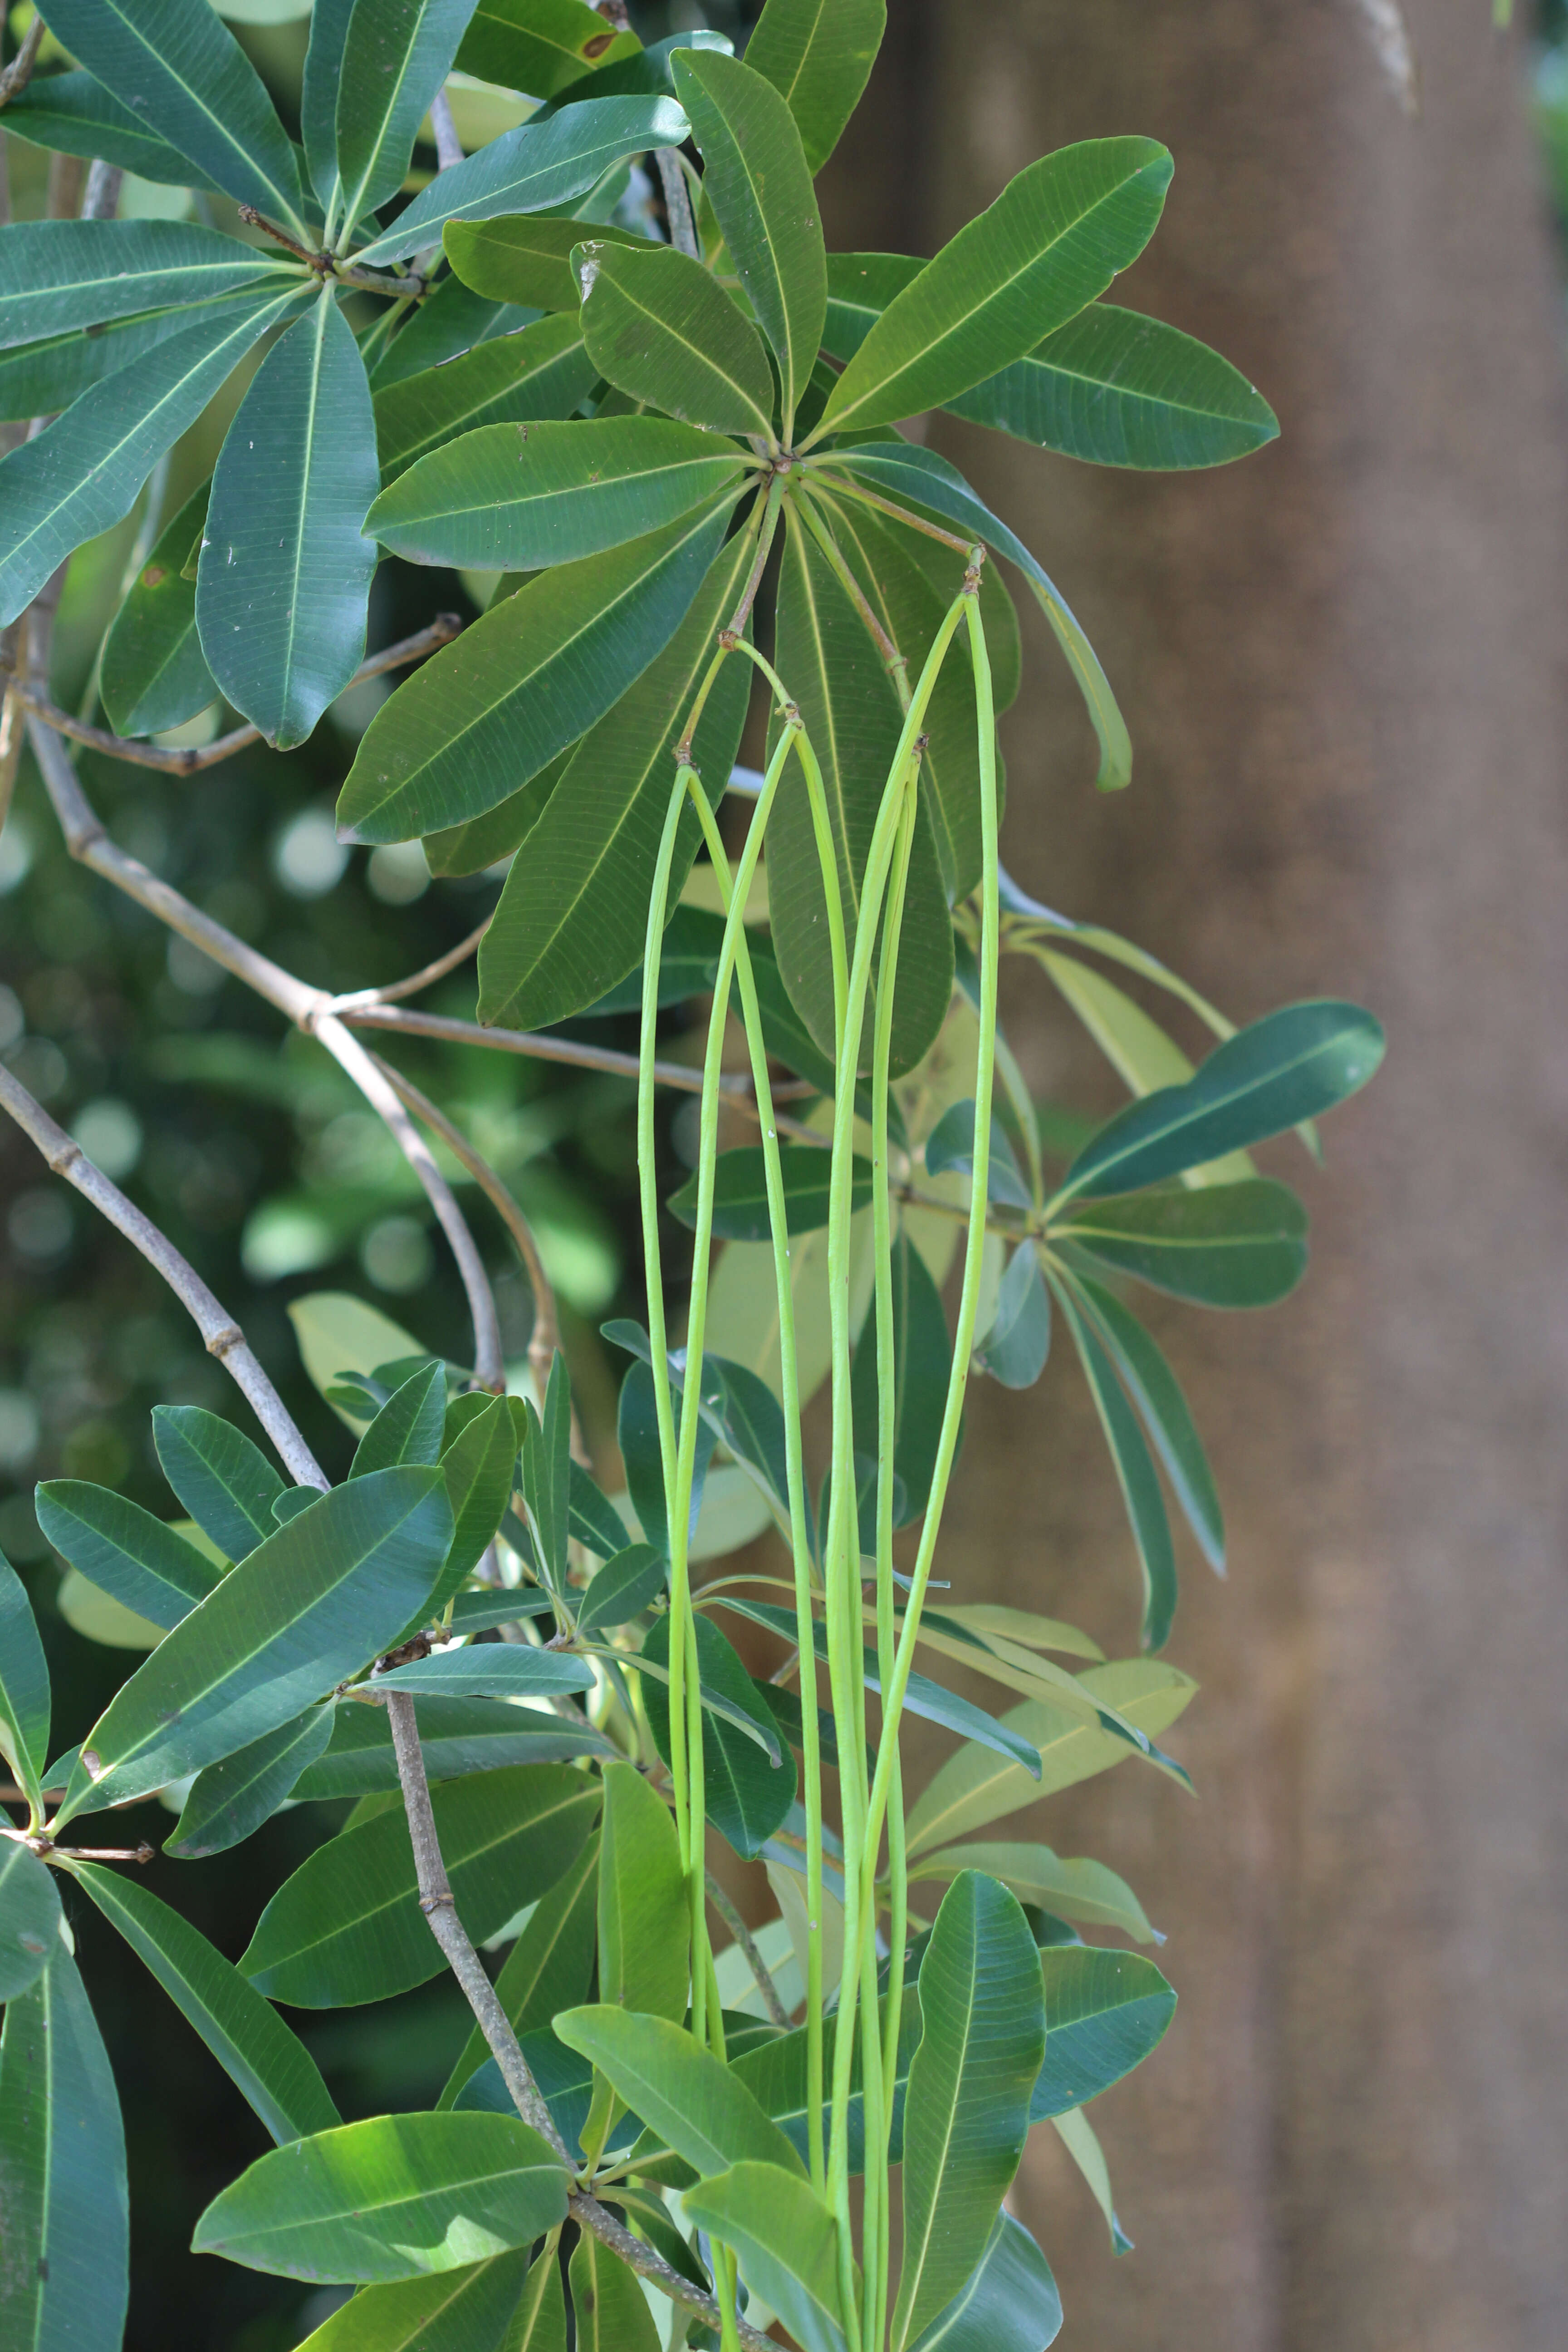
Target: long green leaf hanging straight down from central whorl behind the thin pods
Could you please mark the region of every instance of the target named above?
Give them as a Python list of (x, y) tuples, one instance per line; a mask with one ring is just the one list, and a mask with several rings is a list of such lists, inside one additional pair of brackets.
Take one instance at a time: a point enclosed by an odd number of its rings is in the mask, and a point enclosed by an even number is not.
[[(795, 517), (778, 574), (773, 659), (811, 736), (837, 851), (844, 943), (853, 957), (865, 858), (903, 717), (893, 682), (827, 557)], [(964, 659), (964, 656), (954, 656)], [(769, 727), (776, 743), (778, 720)], [(769, 913), (773, 950), (790, 1000), (811, 1037), (832, 1056), (832, 962), (827, 901), (816, 854), (806, 779), (785, 769), (769, 828)], [(952, 1000), (952, 920), (924, 807), (914, 821), (910, 882), (898, 943), (891, 1070), (900, 1077), (926, 1054)], [(870, 1068), (870, 1007), (860, 1068)]]

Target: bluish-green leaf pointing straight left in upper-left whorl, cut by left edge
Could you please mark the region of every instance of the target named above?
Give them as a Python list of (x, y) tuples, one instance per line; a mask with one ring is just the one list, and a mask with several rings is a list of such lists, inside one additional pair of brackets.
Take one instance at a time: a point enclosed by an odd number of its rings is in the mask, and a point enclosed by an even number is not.
[(244, 287), (277, 261), (190, 221), (19, 221), (0, 242), (0, 348)]

